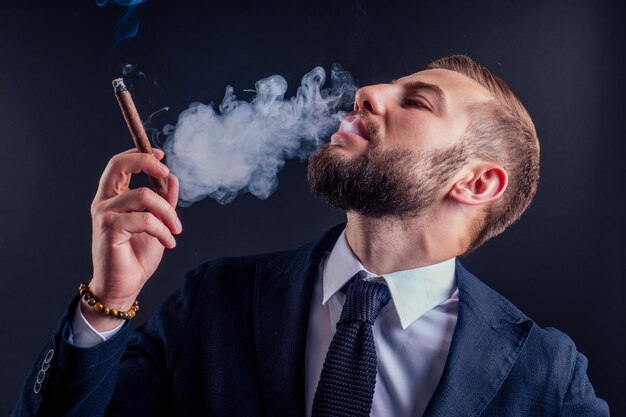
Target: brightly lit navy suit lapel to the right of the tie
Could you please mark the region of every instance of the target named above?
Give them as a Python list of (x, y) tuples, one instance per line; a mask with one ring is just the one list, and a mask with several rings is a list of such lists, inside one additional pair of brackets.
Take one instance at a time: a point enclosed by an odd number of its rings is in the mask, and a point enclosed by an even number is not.
[(479, 416), (509, 374), (532, 322), (457, 262), (459, 314), (424, 417)]

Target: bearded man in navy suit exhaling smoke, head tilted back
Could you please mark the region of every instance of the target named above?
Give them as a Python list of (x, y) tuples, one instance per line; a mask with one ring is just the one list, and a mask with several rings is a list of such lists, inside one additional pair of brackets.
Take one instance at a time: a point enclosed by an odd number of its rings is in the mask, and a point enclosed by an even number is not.
[[(128, 342), (110, 311), (134, 315), (182, 228), (163, 154), (115, 156), (92, 205), (87, 295), (14, 415), (608, 415), (571, 340), (455, 261), (536, 191), (537, 135), (506, 84), (452, 56), (360, 89), (354, 110), (309, 162), (313, 192), (347, 224), (200, 266)], [(169, 193), (129, 190), (139, 171), (168, 178)], [(358, 321), (350, 311), (373, 305), (362, 288), (378, 304)]]

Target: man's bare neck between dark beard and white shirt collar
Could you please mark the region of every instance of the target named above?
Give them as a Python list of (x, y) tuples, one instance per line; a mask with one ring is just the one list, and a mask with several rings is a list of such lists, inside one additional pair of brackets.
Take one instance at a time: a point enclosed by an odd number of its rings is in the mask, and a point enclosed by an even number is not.
[(463, 252), (451, 235), (454, 225), (438, 226), (437, 216), (371, 218), (349, 212), (347, 217), (348, 244), (375, 274), (432, 265)]

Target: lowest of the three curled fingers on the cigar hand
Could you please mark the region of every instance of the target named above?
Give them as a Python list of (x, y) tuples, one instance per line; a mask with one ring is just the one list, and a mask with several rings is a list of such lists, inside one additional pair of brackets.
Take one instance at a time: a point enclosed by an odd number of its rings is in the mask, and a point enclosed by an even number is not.
[(152, 213), (108, 213), (102, 217), (100, 227), (112, 237), (112, 244), (119, 245), (128, 241), (137, 233), (146, 233), (168, 249), (176, 246), (176, 239), (170, 230)]

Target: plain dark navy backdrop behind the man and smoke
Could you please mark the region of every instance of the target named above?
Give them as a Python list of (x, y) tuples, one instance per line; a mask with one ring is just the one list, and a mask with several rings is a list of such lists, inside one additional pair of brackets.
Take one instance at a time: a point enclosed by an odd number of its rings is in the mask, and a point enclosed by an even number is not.
[[(108, 159), (131, 146), (110, 85), (120, 63), (150, 81), (135, 91), (144, 117), (171, 107), (155, 117), (160, 127), (192, 101), (219, 103), (227, 84), (246, 97), (279, 73), (293, 93), (305, 72), (339, 62), (365, 85), (452, 53), (509, 83), (543, 158), (530, 210), (464, 262), (539, 324), (569, 334), (597, 394), (626, 415), (621, 2), (153, 0), (137, 9), (138, 36), (113, 51), (122, 14), (90, 1), (0, 6), (0, 415), (90, 278), (89, 205)], [(289, 162), (279, 181), (265, 201), (180, 209), (185, 231), (136, 322), (204, 260), (294, 247), (342, 220), (309, 194), (305, 164)]]

